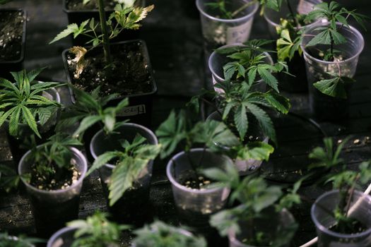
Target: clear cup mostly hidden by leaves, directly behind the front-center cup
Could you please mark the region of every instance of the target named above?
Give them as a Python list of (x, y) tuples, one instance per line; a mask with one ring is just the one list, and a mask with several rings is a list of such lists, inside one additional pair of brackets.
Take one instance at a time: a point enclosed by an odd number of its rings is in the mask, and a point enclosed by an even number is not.
[[(261, 132), (259, 128), (259, 123), (257, 122), (257, 120), (252, 118), (251, 115), (252, 114), (248, 114), (248, 119), (251, 120), (249, 123), (249, 133), (247, 133), (247, 137), (245, 138), (244, 144), (247, 144), (249, 141), (262, 141), (264, 143), (268, 143), (269, 138)], [(207, 119), (222, 121), (222, 114), (221, 112), (213, 112), (208, 116)], [(236, 136), (238, 136), (237, 129), (235, 126), (233, 126), (232, 121), (228, 121), (228, 123), (227, 123), (228, 128), (230, 128), (232, 132), (235, 133)], [(216, 143), (216, 145), (218, 145), (218, 143)], [(230, 150), (230, 147), (223, 148), (225, 150)], [(253, 174), (254, 172), (259, 170), (261, 163), (263, 163), (262, 160), (258, 159), (240, 159), (238, 157), (234, 159), (234, 162), (240, 176)]]

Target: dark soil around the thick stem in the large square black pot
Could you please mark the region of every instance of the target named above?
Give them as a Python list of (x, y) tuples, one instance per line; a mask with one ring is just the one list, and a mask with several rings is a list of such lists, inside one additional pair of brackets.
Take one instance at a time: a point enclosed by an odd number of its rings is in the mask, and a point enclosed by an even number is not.
[[(79, 78), (73, 78), (76, 70), (74, 54), (67, 54), (72, 84), (87, 92), (100, 85), (101, 95), (119, 93), (134, 95), (153, 91), (151, 73), (143, 55), (141, 42), (111, 45), (112, 66), (105, 68), (103, 49), (93, 49), (86, 54), (88, 66)], [(71, 72), (73, 71), (73, 72)]]

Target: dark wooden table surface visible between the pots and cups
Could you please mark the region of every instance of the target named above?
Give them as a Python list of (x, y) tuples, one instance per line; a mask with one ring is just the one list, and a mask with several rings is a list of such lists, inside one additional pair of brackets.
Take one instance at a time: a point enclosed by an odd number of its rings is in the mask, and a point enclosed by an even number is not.
[[(155, 10), (149, 14), (141, 29), (141, 38), (146, 41), (158, 84), (158, 94), (153, 102), (153, 130), (167, 117), (170, 110), (184, 107), (189, 97), (196, 95), (206, 83), (210, 75), (204, 61), (203, 40), (200, 20), (196, 8), (194, 13), (186, 11), (184, 1), (191, 0), (153, 0)], [(349, 8), (358, 8), (360, 13), (370, 16), (371, 4), (365, 0), (340, 1)], [(15, 0), (9, 7), (21, 7), (28, 11), (28, 30), (25, 52), (25, 68), (32, 69), (47, 66), (42, 78), (47, 80), (65, 81), (61, 52), (71, 47), (71, 40), (65, 39), (54, 44), (47, 44), (67, 24), (67, 18), (62, 11), (61, 0)], [(367, 23), (367, 30), (371, 24)], [(358, 164), (371, 157), (371, 32), (361, 30), (365, 38), (365, 49), (360, 54), (358, 70), (355, 75), (357, 83), (351, 90), (351, 113), (349, 119), (337, 123), (319, 122), (322, 131), (335, 140), (342, 140), (351, 135), (351, 140), (342, 153), (350, 169), (356, 169)], [(252, 28), (252, 38), (269, 38), (264, 18), (257, 16)], [(1, 68), (0, 68), (1, 69)], [(61, 90), (62, 100), (68, 101), (68, 92)], [(290, 94), (293, 105), (292, 112), (300, 116), (310, 117), (307, 94)], [(290, 117), (289, 117), (290, 118)], [(293, 116), (295, 118), (295, 116)], [(299, 123), (277, 120), (278, 140), (288, 147), (285, 153), (290, 155), (273, 155), (268, 169), (279, 171), (280, 166), (287, 164), (293, 167), (298, 160), (307, 160), (307, 153), (314, 145), (319, 145), (322, 134), (318, 130), (305, 133)], [(280, 122), (281, 121), (281, 122)], [(304, 123), (305, 124), (305, 123)], [(307, 123), (310, 125), (310, 123)], [(359, 140), (359, 142), (357, 141)], [(290, 150), (290, 148), (293, 148)], [(4, 133), (0, 135), (0, 160), (11, 164), (11, 155), (7, 147)], [(172, 201), (170, 182), (165, 175), (167, 160), (156, 159), (151, 187), (151, 212), (154, 217), (172, 224), (178, 224), (177, 212)], [(277, 167), (274, 167), (277, 166)], [(295, 167), (292, 168), (295, 170)], [(264, 174), (264, 172), (262, 172)], [(267, 178), (269, 176), (265, 174)], [(317, 185), (309, 185), (300, 189), (302, 195), (315, 200), (326, 191)], [(300, 228), (293, 246), (315, 236), (314, 225), (310, 219), (310, 203), (303, 203), (295, 209), (295, 217)], [(106, 210), (105, 200), (97, 174), (84, 181), (80, 202), (79, 217), (93, 214), (97, 209)], [(0, 194), (0, 231), (12, 234), (34, 234), (33, 215), (30, 204), (24, 192)]]

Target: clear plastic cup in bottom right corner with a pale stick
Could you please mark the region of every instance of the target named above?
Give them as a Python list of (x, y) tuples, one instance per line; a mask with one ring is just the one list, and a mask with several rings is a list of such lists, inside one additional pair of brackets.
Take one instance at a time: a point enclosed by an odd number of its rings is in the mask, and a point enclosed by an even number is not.
[(360, 191), (355, 191), (351, 200), (349, 217), (358, 219), (367, 230), (355, 234), (340, 234), (329, 228), (335, 224), (335, 219), (329, 215), (338, 205), (338, 191), (328, 191), (321, 195), (312, 205), (311, 217), (318, 235), (318, 246), (357, 247), (371, 246), (371, 197)]

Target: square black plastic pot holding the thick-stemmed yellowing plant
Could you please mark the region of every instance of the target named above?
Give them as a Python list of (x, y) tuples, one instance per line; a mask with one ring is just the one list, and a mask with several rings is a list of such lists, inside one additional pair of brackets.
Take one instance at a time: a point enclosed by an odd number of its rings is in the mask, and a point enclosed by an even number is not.
[[(125, 107), (122, 112), (117, 114), (117, 118), (119, 121), (130, 120), (131, 123), (138, 123), (146, 127), (151, 126), (151, 119), (152, 119), (152, 102), (153, 102), (153, 95), (157, 92), (157, 85), (155, 83), (153, 77), (153, 70), (151, 66), (151, 61), (148, 55), (148, 49), (146, 46), (146, 42), (143, 40), (128, 40), (124, 42), (118, 42), (111, 44), (112, 46), (124, 46), (126, 44), (130, 44), (133, 42), (139, 42), (141, 44), (141, 53), (143, 54), (144, 61), (146, 64), (146, 69), (150, 73), (151, 82), (152, 82), (152, 90), (151, 92), (134, 94), (134, 95), (123, 95), (115, 100), (110, 101), (108, 104), (110, 106), (117, 105), (122, 99), (125, 97), (129, 98), (129, 107)], [(96, 50), (96, 49), (95, 49)], [(64, 68), (66, 71), (67, 80), (69, 83), (73, 85), (73, 73), (69, 71), (69, 66), (67, 64), (66, 54), (69, 52), (68, 49), (64, 50), (62, 56), (64, 61)], [(73, 96), (72, 90), (71, 92), (71, 101), (75, 102), (75, 97)]]

